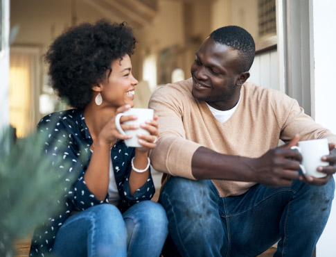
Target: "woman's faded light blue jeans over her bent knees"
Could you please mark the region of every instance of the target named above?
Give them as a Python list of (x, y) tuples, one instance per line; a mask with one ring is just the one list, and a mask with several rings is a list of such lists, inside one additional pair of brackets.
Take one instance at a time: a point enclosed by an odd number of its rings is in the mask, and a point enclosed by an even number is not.
[(166, 212), (154, 201), (141, 201), (125, 213), (101, 204), (69, 217), (53, 244), (55, 256), (158, 257), (168, 234)]

